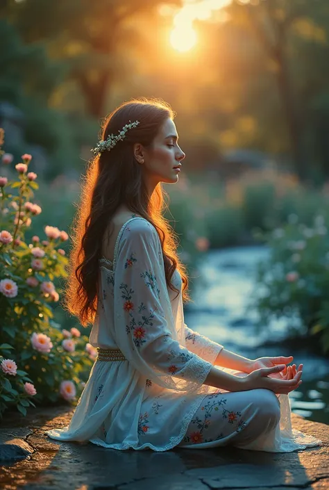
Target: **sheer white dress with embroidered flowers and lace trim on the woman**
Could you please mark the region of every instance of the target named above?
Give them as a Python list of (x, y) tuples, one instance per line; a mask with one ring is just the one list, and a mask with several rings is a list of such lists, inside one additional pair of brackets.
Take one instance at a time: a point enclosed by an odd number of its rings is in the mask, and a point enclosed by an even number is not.
[[(119, 348), (126, 360), (96, 361), (69, 425), (48, 430), (47, 435), (118, 450), (165, 451), (187, 441), (187, 427), (209, 397), (227, 393), (235, 400), (239, 397), (240, 407), (247, 406), (246, 395), (250, 399), (253, 391), (230, 393), (203, 384), (223, 345), (187, 327), (177, 270), (171, 280), (178, 295), (167, 288), (160, 239), (153, 225), (140, 217), (128, 220), (117, 237), (113, 263), (100, 260), (99, 304), (90, 334), (94, 347)], [(292, 430), (287, 395), (271, 395), (276, 404), (280, 400), (280, 424), (255, 438), (251, 448), (285, 452), (321, 444)], [(234, 407), (227, 411), (238, 413)], [(246, 425), (239, 414), (235, 424), (230, 418), (225, 433), (217, 427), (220, 437), (192, 447), (234, 443), (232, 435)]]

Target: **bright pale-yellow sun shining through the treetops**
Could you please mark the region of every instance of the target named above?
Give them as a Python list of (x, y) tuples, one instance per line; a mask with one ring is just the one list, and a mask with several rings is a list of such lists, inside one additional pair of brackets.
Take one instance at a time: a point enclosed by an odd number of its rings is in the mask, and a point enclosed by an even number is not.
[(195, 46), (197, 36), (194, 20), (207, 20), (213, 10), (219, 10), (231, 0), (185, 0), (185, 5), (174, 16), (174, 29), (170, 33), (171, 46), (177, 51), (189, 51)]

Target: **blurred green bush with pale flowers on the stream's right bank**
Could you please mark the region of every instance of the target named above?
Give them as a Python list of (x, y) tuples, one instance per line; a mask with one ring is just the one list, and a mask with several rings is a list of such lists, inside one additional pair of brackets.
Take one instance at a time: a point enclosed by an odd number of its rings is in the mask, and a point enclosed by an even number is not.
[[(289, 334), (329, 352), (328, 216), (319, 210), (312, 226), (291, 214), (285, 226), (258, 238), (269, 245), (269, 258), (258, 264), (249, 307), (260, 313), (259, 325), (289, 318)], [(260, 236), (261, 235), (261, 236)]]

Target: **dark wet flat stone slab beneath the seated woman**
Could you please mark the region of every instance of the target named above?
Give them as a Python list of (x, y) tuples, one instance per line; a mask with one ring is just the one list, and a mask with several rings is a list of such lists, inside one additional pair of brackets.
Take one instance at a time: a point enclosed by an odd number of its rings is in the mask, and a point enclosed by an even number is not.
[[(118, 451), (60, 443), (43, 434), (67, 425), (72, 409), (10, 414), (0, 427), (3, 490), (329, 489), (329, 426), (292, 414), (294, 428), (323, 446), (289, 453), (237, 448)], [(11, 459), (10, 459), (11, 458)]]

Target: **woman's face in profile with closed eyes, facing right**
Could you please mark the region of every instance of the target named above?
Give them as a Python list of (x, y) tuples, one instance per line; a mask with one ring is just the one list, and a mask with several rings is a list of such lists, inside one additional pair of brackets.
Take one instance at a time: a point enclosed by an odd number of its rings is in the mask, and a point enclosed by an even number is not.
[(178, 170), (185, 153), (178, 146), (178, 133), (173, 120), (169, 117), (155, 136), (151, 147), (144, 149), (144, 177), (155, 187), (159, 182), (175, 183)]

